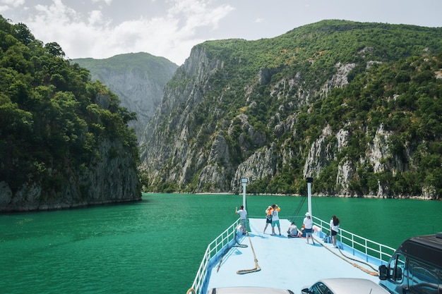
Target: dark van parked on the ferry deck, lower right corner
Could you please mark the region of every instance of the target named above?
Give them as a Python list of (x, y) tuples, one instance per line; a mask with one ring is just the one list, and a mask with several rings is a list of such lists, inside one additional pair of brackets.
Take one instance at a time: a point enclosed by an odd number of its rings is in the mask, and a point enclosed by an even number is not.
[(442, 294), (442, 233), (405, 240), (379, 278), (390, 293)]

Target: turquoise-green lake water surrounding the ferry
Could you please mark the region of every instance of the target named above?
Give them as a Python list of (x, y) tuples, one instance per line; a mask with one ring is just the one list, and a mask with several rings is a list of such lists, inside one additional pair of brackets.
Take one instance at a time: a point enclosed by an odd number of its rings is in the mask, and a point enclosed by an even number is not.
[[(241, 202), (242, 195), (148, 194), (130, 204), (0, 215), (0, 293), (186, 293), (208, 243), (237, 219)], [(276, 203), (282, 218), (299, 212), (301, 222), (300, 202), (253, 195), (247, 210), (263, 216)], [(442, 202), (313, 197), (312, 210), (391, 247), (442, 231)]]

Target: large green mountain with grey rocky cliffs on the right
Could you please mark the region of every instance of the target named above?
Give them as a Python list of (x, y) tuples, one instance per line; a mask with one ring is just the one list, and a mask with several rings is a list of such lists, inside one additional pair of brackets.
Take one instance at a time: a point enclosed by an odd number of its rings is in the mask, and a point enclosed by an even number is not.
[(150, 191), (442, 195), (442, 28), (323, 20), (198, 44), (141, 139)]

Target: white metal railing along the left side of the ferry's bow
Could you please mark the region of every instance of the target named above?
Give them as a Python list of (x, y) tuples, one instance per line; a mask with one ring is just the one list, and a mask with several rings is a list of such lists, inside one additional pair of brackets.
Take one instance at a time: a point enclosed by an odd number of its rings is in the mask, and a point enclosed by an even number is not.
[[(193, 289), (193, 292), (196, 294), (202, 293), (201, 290), (204, 290), (203, 287), (207, 286), (207, 279), (208, 279), (208, 270), (212, 266), (210, 261), (215, 257), (216, 255), (223, 255), (225, 251), (229, 250), (230, 246), (229, 243), (234, 244), (235, 235), (237, 231), (237, 227), (239, 226), (240, 220), (237, 219), (234, 223), (232, 223), (227, 230), (222, 232), (215, 240), (212, 241), (205, 250), (203, 260), (201, 261), (200, 267), (198, 268), (198, 271), (196, 272), (195, 280), (193, 281), (191, 289)], [(187, 291), (188, 293), (191, 293), (191, 289)]]

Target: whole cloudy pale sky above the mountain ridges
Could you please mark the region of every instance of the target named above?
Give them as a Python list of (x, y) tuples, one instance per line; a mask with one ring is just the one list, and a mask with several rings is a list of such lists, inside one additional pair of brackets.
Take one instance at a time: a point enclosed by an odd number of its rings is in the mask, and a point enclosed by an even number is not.
[(261, 39), (324, 19), (442, 27), (442, 0), (0, 0), (66, 58), (148, 52), (181, 65), (209, 39)]

